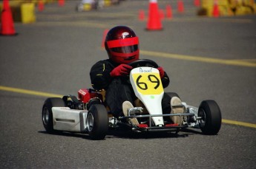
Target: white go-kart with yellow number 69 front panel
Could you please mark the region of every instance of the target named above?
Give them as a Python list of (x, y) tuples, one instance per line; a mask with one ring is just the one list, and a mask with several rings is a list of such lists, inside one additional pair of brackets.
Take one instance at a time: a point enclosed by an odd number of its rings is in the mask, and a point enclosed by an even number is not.
[[(184, 128), (200, 128), (203, 134), (214, 135), (220, 131), (221, 112), (214, 100), (203, 100), (199, 107), (182, 103), (184, 113), (163, 114), (161, 100), (164, 90), (157, 63), (151, 60), (137, 60), (129, 63), (133, 69), (129, 81), (143, 106), (128, 108), (125, 115), (114, 117), (105, 105), (105, 92), (93, 89), (79, 89), (78, 98), (65, 95), (62, 98), (50, 97), (42, 107), (42, 123), (49, 133), (70, 131), (87, 133), (91, 139), (104, 139), (108, 129), (127, 126), (135, 132), (171, 131)], [(177, 93), (167, 92), (170, 97)], [(146, 108), (146, 113), (143, 111)], [(180, 123), (173, 123), (167, 117), (178, 116)], [(131, 119), (137, 118), (134, 125)]]

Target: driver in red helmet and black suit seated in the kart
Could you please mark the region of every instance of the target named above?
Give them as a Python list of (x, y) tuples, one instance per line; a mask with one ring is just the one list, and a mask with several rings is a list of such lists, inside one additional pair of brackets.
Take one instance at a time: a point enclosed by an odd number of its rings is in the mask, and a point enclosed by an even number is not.
[[(140, 55), (139, 38), (129, 27), (117, 26), (108, 31), (105, 38), (105, 49), (108, 59), (95, 63), (90, 72), (93, 89), (105, 89), (105, 102), (110, 108), (114, 117), (119, 117), (122, 113), (127, 116), (128, 108), (137, 106), (137, 97), (134, 94), (131, 83), (128, 83), (128, 75), (132, 69), (128, 63), (137, 61)], [(167, 87), (170, 80), (163, 67), (157, 68), (163, 83), (163, 88)], [(163, 114), (183, 113), (183, 108), (171, 108), (171, 105), (180, 105), (178, 97), (171, 99), (164, 93), (162, 100)], [(179, 123), (180, 117), (171, 117), (173, 123)], [(138, 125), (136, 118), (130, 123)]]

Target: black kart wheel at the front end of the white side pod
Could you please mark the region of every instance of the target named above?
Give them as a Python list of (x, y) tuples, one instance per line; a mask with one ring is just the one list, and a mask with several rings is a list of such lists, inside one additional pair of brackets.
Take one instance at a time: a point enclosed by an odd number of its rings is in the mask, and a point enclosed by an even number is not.
[(89, 137), (104, 139), (108, 131), (108, 112), (101, 104), (92, 105), (86, 119)]

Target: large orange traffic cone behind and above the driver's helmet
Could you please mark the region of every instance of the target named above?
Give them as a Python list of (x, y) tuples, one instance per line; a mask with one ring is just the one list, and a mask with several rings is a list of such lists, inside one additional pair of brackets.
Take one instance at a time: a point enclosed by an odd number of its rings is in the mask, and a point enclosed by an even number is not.
[(148, 24), (146, 30), (162, 30), (162, 23), (158, 11), (157, 0), (149, 1)]

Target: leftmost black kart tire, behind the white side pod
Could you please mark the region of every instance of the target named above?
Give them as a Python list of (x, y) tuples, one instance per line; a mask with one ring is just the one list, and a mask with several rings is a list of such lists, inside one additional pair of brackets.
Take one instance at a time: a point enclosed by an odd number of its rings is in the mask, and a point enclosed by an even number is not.
[(51, 97), (45, 100), (42, 107), (42, 123), (48, 133), (53, 133), (53, 107), (65, 107), (65, 102), (62, 98)]

